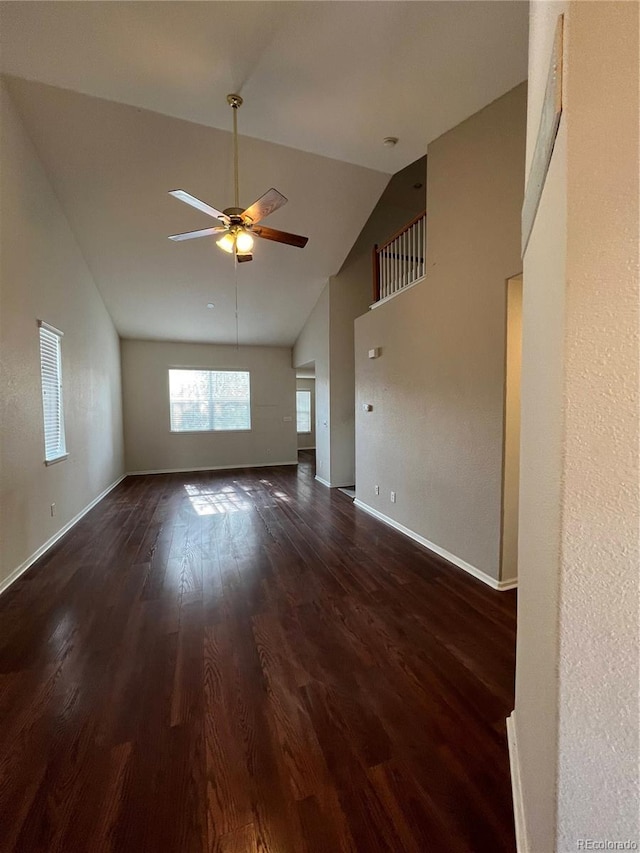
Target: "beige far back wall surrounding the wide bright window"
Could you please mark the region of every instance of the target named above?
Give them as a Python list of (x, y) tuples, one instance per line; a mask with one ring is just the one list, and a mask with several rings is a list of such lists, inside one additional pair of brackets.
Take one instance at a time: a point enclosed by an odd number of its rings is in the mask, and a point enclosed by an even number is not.
[[(249, 370), (251, 430), (172, 433), (169, 368)], [(127, 471), (230, 468), (297, 461), (295, 371), (286, 347), (122, 341)], [(285, 418), (290, 420), (285, 421)]]

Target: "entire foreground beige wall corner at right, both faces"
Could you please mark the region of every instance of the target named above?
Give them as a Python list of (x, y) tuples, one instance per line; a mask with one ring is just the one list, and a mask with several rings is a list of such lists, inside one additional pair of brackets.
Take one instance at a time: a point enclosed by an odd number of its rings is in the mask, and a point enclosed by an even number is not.
[[(566, 10), (564, 114), (524, 265), (515, 719), (532, 853), (640, 830), (638, 6)], [(538, 110), (557, 12), (532, 4)]]

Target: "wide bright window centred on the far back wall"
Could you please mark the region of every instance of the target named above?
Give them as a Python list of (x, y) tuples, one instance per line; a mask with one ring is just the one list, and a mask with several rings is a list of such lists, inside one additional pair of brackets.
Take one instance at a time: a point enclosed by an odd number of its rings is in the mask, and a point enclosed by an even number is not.
[(247, 370), (169, 371), (172, 432), (251, 429)]

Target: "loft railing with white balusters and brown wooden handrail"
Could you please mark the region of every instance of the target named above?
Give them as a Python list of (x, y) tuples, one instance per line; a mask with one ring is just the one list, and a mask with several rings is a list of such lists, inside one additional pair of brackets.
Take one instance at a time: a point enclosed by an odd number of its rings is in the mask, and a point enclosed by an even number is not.
[(421, 213), (382, 246), (373, 247), (373, 301), (424, 278), (427, 215)]

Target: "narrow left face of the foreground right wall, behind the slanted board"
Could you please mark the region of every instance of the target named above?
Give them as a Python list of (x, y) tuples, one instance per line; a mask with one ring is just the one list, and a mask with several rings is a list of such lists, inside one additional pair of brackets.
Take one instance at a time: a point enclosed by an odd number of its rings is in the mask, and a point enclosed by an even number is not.
[[(564, 4), (532, 3), (527, 168)], [(516, 729), (530, 853), (555, 847), (566, 120), (524, 257)]]

